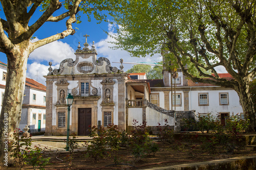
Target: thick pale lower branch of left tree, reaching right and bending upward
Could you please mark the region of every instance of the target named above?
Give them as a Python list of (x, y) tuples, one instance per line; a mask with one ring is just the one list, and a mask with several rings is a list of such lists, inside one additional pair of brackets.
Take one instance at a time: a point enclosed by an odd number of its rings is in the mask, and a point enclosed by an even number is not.
[(42, 45), (51, 43), (51, 42), (56, 41), (58, 39), (63, 39), (65, 37), (67, 37), (68, 35), (73, 35), (75, 33), (75, 30), (72, 29), (72, 23), (74, 23), (74, 22), (76, 22), (75, 14), (70, 16), (70, 18), (66, 21), (66, 26), (67, 26), (66, 31), (63, 31), (62, 33), (55, 34), (51, 37), (41, 39), (39, 41), (34, 42), (33, 45), (30, 48), (30, 52), (34, 51), (36, 48), (38, 48)]

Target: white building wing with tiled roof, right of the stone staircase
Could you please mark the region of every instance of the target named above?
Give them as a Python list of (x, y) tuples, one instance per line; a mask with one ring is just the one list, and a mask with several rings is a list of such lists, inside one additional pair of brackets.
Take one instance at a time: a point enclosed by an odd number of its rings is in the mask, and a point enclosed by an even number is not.
[[(219, 76), (227, 80), (232, 79), (230, 74), (219, 74)], [(186, 79), (182, 71), (178, 70), (175, 89), (174, 79), (172, 80), (172, 99), (171, 77), (167, 70), (163, 71), (163, 77), (164, 78), (161, 80), (146, 80), (150, 83), (151, 103), (167, 110), (195, 110), (196, 116), (209, 113), (213, 116), (220, 114), (221, 123), (223, 125), (225, 125), (227, 116), (239, 114), (243, 117), (243, 109), (240, 104), (239, 96), (233, 89), (207, 83), (193, 82)]]

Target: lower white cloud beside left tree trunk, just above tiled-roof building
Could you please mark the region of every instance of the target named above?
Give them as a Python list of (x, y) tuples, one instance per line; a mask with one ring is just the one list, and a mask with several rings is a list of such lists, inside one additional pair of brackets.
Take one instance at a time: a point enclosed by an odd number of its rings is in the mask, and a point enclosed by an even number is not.
[[(41, 84), (46, 85), (46, 79), (43, 76), (47, 76), (49, 65), (40, 64), (33, 62), (32, 64), (27, 65), (27, 78), (34, 79)], [(52, 68), (59, 68), (59, 64), (52, 65)]]

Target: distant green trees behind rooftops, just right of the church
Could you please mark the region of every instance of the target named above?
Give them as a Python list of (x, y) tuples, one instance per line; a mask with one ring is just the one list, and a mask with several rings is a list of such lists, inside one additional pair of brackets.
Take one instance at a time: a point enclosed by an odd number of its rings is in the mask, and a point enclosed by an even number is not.
[(131, 69), (127, 70), (127, 73), (133, 72), (145, 72), (147, 79), (162, 79), (163, 66), (156, 65), (152, 68), (150, 65), (134, 65)]

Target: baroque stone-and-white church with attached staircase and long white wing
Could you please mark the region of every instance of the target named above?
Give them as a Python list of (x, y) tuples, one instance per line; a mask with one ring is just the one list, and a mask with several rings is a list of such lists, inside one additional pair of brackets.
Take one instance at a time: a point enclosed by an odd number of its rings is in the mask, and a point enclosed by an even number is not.
[(45, 135), (67, 134), (65, 98), (69, 93), (74, 97), (70, 131), (80, 136), (88, 135), (90, 126), (106, 127), (109, 124), (129, 132), (135, 119), (137, 125), (146, 123), (153, 132), (166, 121), (174, 130), (180, 131), (180, 120), (184, 116), (196, 119), (200, 114), (209, 114), (209, 110), (215, 115), (225, 113), (224, 117), (232, 112), (242, 112), (238, 95), (232, 89), (194, 83), (178, 72), (174, 102), (171, 100), (172, 80), (165, 69), (161, 80), (146, 80), (145, 74), (126, 74), (122, 59), (120, 69), (112, 67), (109, 59), (97, 58), (94, 43), (90, 49), (87, 40), (82, 49), (79, 43), (75, 55), (75, 61), (61, 61), (59, 69), (52, 69), (49, 62), (49, 73), (45, 76)]

